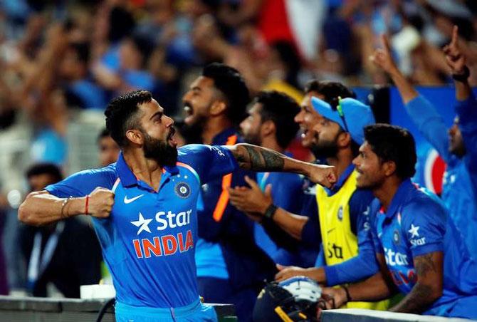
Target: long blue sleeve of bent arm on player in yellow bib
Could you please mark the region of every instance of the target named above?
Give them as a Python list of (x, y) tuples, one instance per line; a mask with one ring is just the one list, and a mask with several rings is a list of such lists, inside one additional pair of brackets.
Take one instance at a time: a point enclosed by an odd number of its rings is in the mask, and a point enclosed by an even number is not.
[[(350, 199), (350, 217), (355, 222), (358, 239), (357, 256), (340, 264), (325, 266), (328, 286), (361, 281), (378, 270), (371, 236), (369, 204), (374, 199), (372, 192), (356, 190)], [(360, 269), (355, 269), (360, 267)]]

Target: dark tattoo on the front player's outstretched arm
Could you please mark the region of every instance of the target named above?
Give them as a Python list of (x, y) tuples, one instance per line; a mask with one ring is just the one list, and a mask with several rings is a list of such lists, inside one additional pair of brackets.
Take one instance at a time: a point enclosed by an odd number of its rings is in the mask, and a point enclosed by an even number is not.
[(253, 171), (282, 171), (285, 165), (283, 155), (263, 147), (239, 145), (236, 160), (245, 169)]

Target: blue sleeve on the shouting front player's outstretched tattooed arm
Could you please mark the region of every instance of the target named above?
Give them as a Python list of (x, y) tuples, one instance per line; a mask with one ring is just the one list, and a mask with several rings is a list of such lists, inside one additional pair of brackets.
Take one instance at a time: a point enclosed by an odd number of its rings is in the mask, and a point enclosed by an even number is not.
[(196, 170), (201, 184), (234, 172), (239, 167), (232, 152), (221, 145), (192, 144), (179, 147), (179, 162)]

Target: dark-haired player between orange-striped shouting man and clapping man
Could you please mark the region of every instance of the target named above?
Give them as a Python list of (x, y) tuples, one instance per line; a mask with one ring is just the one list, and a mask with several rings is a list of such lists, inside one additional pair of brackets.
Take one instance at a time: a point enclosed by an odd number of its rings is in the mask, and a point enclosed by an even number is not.
[[(298, 123), (295, 123), (293, 118), (299, 111), (300, 106), (288, 95), (275, 90), (258, 93), (248, 109), (248, 117), (240, 123), (243, 139), (247, 143), (285, 153), (285, 149), (298, 132)], [(252, 189), (259, 189), (271, 195), (273, 200), (276, 200), (277, 207), (300, 214), (305, 196), (302, 189), (303, 180), (299, 175), (259, 172), (256, 181), (249, 177), (245, 180)], [(251, 219), (260, 219), (253, 214), (248, 215)], [(278, 246), (258, 222), (253, 228), (256, 244), (276, 263), (305, 267), (314, 264), (318, 255), (318, 249), (315, 247), (300, 245), (291, 251)]]

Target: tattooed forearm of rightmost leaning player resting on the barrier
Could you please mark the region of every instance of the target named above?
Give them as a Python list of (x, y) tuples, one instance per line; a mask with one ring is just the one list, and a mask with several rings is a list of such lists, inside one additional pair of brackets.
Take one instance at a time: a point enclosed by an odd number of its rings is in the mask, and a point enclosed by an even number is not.
[(412, 288), (412, 291), (389, 311), (402, 313), (422, 313), (439, 297), (440, 295), (435, 294), (434, 287), (421, 284), (418, 281)]

